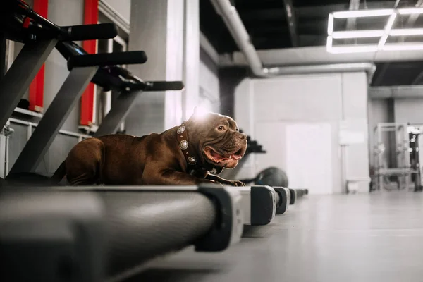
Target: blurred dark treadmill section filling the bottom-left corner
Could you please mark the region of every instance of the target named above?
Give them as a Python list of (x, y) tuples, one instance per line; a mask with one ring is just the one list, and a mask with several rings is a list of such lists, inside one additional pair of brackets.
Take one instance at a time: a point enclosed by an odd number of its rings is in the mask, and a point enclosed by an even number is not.
[(4, 189), (0, 281), (104, 281), (105, 226), (94, 193)]

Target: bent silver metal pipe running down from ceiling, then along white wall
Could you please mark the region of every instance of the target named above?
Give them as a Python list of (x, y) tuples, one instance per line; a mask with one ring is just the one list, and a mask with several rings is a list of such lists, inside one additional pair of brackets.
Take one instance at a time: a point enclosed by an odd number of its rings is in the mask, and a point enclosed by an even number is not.
[(250, 35), (248, 35), (243, 21), (241, 20), (236, 8), (232, 6), (229, 0), (211, 0), (212, 4), (228, 27), (236, 44), (243, 52), (245, 60), (252, 73), (262, 78), (274, 78), (281, 75), (293, 75), (304, 73), (342, 73), (366, 71), (369, 82), (372, 81), (376, 66), (373, 63), (340, 63), (340, 64), (320, 64), (310, 66), (276, 66), (272, 68), (264, 68), (259, 54), (251, 43)]

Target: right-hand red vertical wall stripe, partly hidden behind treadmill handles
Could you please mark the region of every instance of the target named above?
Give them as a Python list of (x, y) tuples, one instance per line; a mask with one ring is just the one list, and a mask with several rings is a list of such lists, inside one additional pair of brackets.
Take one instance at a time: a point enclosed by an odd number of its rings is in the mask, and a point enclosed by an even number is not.
[[(99, 0), (85, 0), (84, 25), (96, 24), (99, 20)], [(87, 40), (82, 47), (90, 54), (97, 53), (97, 40)], [(94, 84), (90, 82), (81, 98), (81, 125), (91, 125), (94, 120)]]

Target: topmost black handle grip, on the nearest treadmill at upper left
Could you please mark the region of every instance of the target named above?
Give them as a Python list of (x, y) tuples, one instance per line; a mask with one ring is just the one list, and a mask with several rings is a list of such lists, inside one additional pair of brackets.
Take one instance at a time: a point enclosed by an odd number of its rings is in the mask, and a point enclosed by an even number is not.
[(118, 27), (114, 23), (97, 25), (73, 25), (61, 27), (63, 41), (110, 39), (118, 35)]

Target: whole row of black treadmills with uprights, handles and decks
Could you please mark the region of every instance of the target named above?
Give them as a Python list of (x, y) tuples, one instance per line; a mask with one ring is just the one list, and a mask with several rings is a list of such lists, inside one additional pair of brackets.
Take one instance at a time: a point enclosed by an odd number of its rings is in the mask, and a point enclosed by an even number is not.
[(0, 179), (0, 281), (125, 281), (152, 259), (191, 245), (197, 252), (224, 252), (241, 240), (244, 226), (271, 224), (308, 193), (265, 185), (37, 183), (32, 171), (89, 82), (121, 92), (94, 136), (116, 133), (142, 92), (181, 90), (183, 83), (145, 82), (120, 67), (145, 63), (143, 51), (87, 54), (73, 43), (115, 37), (112, 23), (60, 27), (24, 1), (5, 2), (0, 32), (25, 45), (11, 68), (0, 73), (0, 128), (54, 48), (70, 73), (8, 177)]

